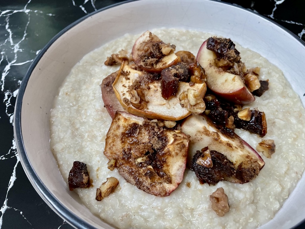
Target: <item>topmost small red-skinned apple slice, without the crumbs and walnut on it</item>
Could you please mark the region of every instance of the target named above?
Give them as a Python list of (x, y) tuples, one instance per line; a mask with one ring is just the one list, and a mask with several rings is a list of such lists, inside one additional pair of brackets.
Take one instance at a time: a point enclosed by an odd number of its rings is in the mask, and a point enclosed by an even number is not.
[(142, 70), (150, 73), (160, 73), (163, 69), (177, 64), (179, 61), (178, 56), (173, 52), (168, 55), (162, 55), (162, 58), (156, 61), (155, 64), (149, 64), (142, 59), (144, 53), (151, 52), (152, 44), (164, 44), (156, 35), (150, 31), (144, 32), (136, 41), (132, 47), (131, 55), (135, 64)]

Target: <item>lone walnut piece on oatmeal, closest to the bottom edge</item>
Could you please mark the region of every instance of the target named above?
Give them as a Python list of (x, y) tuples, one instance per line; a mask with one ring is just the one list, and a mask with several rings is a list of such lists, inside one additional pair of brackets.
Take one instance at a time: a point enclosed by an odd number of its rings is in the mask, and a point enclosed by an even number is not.
[(216, 191), (210, 195), (212, 202), (212, 209), (218, 216), (224, 216), (229, 211), (228, 196), (224, 193), (222, 187), (217, 188)]

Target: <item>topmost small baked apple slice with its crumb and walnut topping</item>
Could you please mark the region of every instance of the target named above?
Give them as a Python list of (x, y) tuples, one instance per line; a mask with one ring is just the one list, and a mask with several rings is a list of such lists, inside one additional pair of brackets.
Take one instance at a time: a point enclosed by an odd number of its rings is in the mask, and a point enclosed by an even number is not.
[(135, 41), (131, 55), (140, 69), (160, 73), (162, 69), (178, 63), (175, 48), (175, 45), (165, 44), (156, 35), (146, 31)]

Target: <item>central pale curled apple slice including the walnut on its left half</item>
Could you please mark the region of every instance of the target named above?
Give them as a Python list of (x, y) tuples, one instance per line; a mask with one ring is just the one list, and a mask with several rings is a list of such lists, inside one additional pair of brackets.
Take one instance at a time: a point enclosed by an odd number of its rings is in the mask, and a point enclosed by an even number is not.
[[(179, 99), (181, 94), (187, 95), (186, 92), (191, 90), (193, 93), (189, 94), (197, 96), (193, 100), (202, 100), (206, 93), (205, 83), (179, 82), (176, 96), (165, 100), (162, 97), (161, 81), (152, 77), (151, 74), (132, 69), (124, 63), (121, 65), (117, 78), (113, 82), (113, 89), (127, 112), (152, 119), (181, 120), (192, 114), (192, 110), (187, 105), (181, 106), (182, 103), (185, 104), (184, 99), (181, 99), (182, 101)], [(204, 105), (203, 100), (202, 103)], [(196, 102), (194, 104), (195, 112)], [(201, 112), (203, 111), (204, 109)]]

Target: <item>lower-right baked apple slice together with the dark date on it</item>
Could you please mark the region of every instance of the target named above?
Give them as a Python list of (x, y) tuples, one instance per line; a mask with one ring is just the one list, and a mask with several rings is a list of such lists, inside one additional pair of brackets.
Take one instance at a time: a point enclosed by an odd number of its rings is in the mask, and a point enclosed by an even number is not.
[[(204, 115), (190, 115), (182, 123), (181, 131), (190, 136), (190, 167), (201, 183), (216, 184), (219, 180), (246, 183), (254, 179), (265, 164), (238, 135), (218, 129)], [(207, 163), (211, 160), (213, 167)]]

